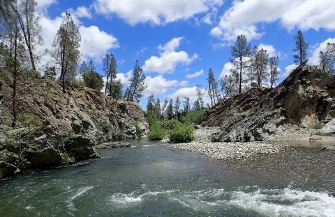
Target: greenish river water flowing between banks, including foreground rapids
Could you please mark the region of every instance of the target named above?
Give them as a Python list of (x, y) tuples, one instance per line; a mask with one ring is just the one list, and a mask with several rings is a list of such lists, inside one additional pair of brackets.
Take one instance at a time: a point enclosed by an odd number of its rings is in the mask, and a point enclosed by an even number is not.
[(0, 216), (335, 216), (326, 181), (232, 169), (145, 139), (131, 146), (0, 182)]

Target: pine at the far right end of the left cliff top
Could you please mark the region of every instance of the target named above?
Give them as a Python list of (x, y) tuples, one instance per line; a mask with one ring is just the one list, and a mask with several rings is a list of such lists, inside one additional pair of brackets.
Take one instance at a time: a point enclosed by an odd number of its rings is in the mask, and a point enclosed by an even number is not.
[(131, 81), (130, 87), (129, 87), (129, 93), (127, 96), (127, 101), (135, 101), (140, 102), (140, 98), (143, 97), (142, 91), (147, 88), (147, 86), (144, 86), (144, 81), (146, 77), (143, 74), (143, 70), (138, 64), (138, 61), (136, 60), (134, 70), (133, 70), (133, 77), (129, 79)]

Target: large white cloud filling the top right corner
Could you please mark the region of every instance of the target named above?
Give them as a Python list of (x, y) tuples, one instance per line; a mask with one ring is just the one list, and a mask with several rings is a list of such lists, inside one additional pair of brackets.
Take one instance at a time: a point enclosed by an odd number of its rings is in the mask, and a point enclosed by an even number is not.
[(260, 22), (280, 22), (289, 31), (298, 28), (335, 29), (335, 4), (332, 0), (235, 0), (232, 7), (222, 15), (211, 35), (225, 41), (234, 41), (240, 34), (248, 40), (258, 39), (264, 34), (257, 28)]

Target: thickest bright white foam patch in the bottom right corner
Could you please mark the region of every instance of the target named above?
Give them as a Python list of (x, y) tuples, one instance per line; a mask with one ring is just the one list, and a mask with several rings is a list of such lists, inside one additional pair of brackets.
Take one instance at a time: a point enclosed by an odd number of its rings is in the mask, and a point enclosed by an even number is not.
[(335, 216), (335, 198), (328, 193), (290, 188), (232, 192), (228, 204), (264, 216)]

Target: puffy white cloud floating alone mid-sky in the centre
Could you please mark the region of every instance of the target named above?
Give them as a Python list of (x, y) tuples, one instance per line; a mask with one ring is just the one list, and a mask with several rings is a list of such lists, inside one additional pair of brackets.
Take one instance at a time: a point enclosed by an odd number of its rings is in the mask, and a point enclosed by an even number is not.
[(175, 51), (184, 37), (173, 38), (165, 45), (159, 45), (160, 56), (151, 56), (144, 62), (144, 72), (172, 73), (178, 64), (189, 65), (198, 58), (198, 54), (191, 57), (185, 51)]

